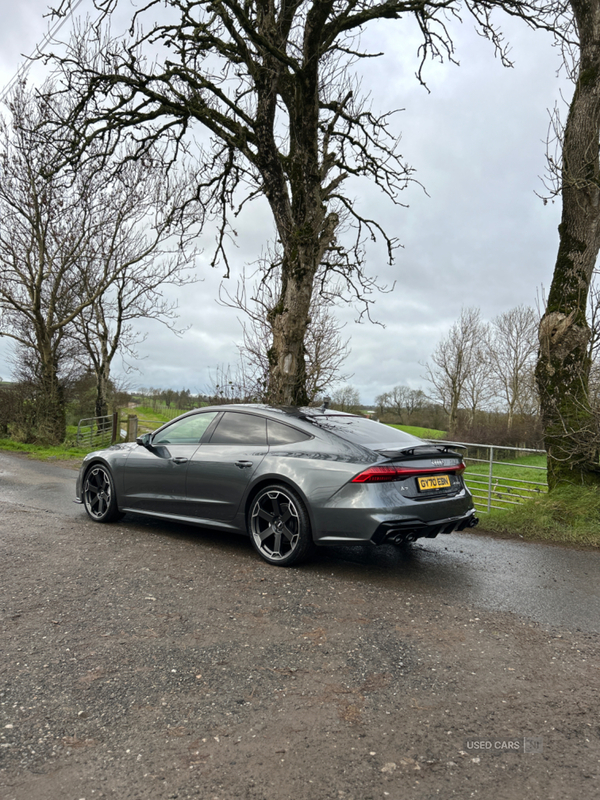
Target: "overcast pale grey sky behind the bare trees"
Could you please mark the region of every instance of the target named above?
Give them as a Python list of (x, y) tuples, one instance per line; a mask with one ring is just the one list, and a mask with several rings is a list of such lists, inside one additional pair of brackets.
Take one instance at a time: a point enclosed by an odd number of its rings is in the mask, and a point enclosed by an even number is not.
[[(31, 53), (47, 30), (46, 0), (20, 0), (3, 8), (0, 85), (12, 78), (21, 54)], [(83, 0), (78, 12), (91, 12)], [(501, 17), (498, 17), (500, 20)], [(401, 152), (427, 190), (411, 186), (408, 208), (390, 206), (377, 192), (361, 189), (363, 208), (373, 213), (403, 248), (393, 267), (380, 248), (369, 251), (368, 269), (395, 290), (381, 295), (375, 316), (385, 327), (358, 325), (352, 309), (340, 309), (352, 352), (347, 371), (363, 403), (397, 384), (428, 386), (421, 377), (436, 342), (462, 306), (481, 308), (486, 319), (520, 303), (534, 305), (552, 278), (559, 204), (543, 205), (548, 109), (568, 98), (570, 85), (557, 77), (559, 53), (551, 38), (501, 19), (512, 45), (513, 69), (494, 58), (489, 42), (469, 22), (453, 23), (460, 66), (426, 71), (430, 93), (417, 83), (415, 40), (402, 22), (369, 29), (363, 42), (385, 52), (365, 63), (363, 88), (373, 106), (402, 108), (395, 117)], [(65, 34), (66, 26), (61, 31)], [(40, 74), (39, 68), (32, 79)], [(272, 230), (268, 214), (251, 208), (239, 220), (232, 263), (239, 272), (253, 260)], [(234, 310), (216, 303), (222, 270), (211, 270), (210, 236), (202, 242), (201, 283), (178, 293), (180, 339), (155, 322), (145, 328), (145, 356), (131, 388), (160, 386), (202, 391), (209, 373), (237, 358), (241, 328)], [(232, 289), (234, 287), (232, 286)], [(0, 375), (10, 374), (9, 346), (0, 339)]]

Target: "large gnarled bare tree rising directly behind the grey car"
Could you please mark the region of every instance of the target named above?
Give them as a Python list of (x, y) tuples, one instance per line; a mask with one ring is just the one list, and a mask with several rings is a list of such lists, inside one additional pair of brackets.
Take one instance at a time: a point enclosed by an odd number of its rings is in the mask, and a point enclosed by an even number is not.
[[(95, 0), (104, 21), (118, 0)], [(72, 127), (87, 146), (135, 131), (140, 149), (170, 139), (173, 158), (194, 123), (211, 137), (196, 190), (218, 221), (215, 259), (227, 264), (229, 221), (250, 199), (266, 198), (281, 252), (281, 291), (268, 322), (273, 345), (268, 396), (307, 401), (304, 348), (320, 268), (345, 295), (369, 307), (375, 281), (364, 270), (363, 240), (395, 241), (352, 199), (348, 178), (366, 179), (394, 203), (411, 179), (391, 115), (378, 116), (360, 91), (356, 62), (374, 20), (410, 17), (421, 36), (418, 73), (429, 57), (453, 58), (448, 15), (466, 8), (506, 61), (490, 21), (496, 5), (544, 24), (526, 0), (158, 0), (135, 12), (128, 37), (106, 38), (99, 22), (61, 57), (65, 84), (81, 97)], [(63, 0), (58, 14), (72, 0)], [(546, 9), (546, 6), (543, 5)], [(144, 24), (145, 23), (145, 24)], [(145, 58), (149, 48), (152, 61)], [(347, 231), (344, 233), (343, 224)]]

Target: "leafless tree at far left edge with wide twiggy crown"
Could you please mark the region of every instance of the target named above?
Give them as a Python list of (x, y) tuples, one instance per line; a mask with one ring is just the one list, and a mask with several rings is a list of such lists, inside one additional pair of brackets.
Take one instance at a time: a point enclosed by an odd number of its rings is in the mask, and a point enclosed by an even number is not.
[[(50, 94), (48, 87), (31, 95), (21, 87), (0, 126), (0, 335), (17, 343), (39, 386), (40, 435), (61, 441), (75, 321), (132, 261), (147, 258), (171, 218), (164, 206), (149, 214), (128, 201), (127, 171), (111, 174), (91, 157), (78, 169), (65, 164), (64, 132), (57, 138), (49, 123), (69, 108)], [(99, 145), (92, 149), (105, 159)], [(152, 233), (132, 260), (127, 233), (144, 223)]]

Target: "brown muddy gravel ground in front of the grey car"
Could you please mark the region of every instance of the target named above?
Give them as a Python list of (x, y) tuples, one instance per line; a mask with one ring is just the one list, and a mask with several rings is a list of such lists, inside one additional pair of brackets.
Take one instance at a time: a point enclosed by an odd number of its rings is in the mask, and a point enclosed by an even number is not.
[(420, 547), (286, 570), (0, 501), (0, 798), (600, 796), (599, 635), (420, 588)]

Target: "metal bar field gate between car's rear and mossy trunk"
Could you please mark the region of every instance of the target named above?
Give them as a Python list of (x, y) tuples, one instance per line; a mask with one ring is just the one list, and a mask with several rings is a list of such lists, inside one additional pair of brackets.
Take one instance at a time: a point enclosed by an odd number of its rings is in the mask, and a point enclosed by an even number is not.
[(465, 483), (482, 513), (505, 511), (548, 491), (546, 451), (529, 447), (431, 440), (466, 448)]

